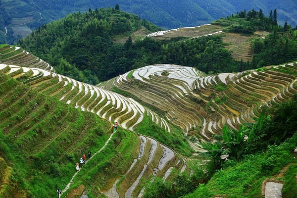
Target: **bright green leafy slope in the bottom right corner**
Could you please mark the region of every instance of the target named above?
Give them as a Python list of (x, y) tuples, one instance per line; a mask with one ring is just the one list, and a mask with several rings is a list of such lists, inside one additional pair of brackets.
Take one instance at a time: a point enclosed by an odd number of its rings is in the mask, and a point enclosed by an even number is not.
[[(279, 174), (287, 164), (296, 163), (292, 149), (297, 146), (297, 133), (280, 146), (269, 146), (267, 152), (250, 154), (242, 161), (228, 160), (222, 170), (218, 170), (207, 184), (200, 184), (198, 189), (185, 198), (209, 198), (220, 195), (230, 198), (261, 197), (261, 183)], [(285, 176), (284, 191), (296, 190), (292, 180), (296, 176), (296, 164), (290, 166)], [(286, 190), (287, 189), (287, 190)], [(290, 192), (288, 192), (290, 193)], [(296, 195), (296, 191), (293, 191)]]

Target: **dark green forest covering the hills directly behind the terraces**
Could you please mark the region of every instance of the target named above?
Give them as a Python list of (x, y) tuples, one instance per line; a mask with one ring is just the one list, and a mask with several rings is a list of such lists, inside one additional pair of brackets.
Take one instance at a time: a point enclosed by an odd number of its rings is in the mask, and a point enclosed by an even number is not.
[(271, 17), (265, 17), (261, 10), (242, 11), (213, 23), (223, 25), (226, 32), (251, 34), (255, 30), (271, 30), (272, 34), (253, 41), (251, 62), (234, 60), (218, 35), (171, 40), (147, 37), (134, 42), (129, 38), (125, 44), (119, 44), (113, 43), (112, 38), (130, 35), (142, 26), (150, 31), (159, 28), (136, 15), (109, 8), (67, 15), (38, 28), (18, 44), (48, 61), (58, 73), (91, 84), (149, 64), (193, 66), (211, 74), (243, 71), (297, 58), (297, 31), (287, 23), (278, 26), (276, 10)]

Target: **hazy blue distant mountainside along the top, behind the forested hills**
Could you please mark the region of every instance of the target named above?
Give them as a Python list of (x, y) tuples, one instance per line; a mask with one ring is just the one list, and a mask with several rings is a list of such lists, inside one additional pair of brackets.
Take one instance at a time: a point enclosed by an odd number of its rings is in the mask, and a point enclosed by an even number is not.
[[(279, 25), (283, 25), (285, 20), (293, 27), (297, 25), (297, 13), (294, 12), (297, 2), (294, 0), (2, 0), (0, 43), (12, 43), (16, 39), (11, 38), (12, 31), (14, 36), (23, 37), (42, 24), (62, 18), (68, 13), (114, 7), (116, 4), (119, 4), (121, 10), (135, 13), (165, 29), (197, 26), (252, 8), (261, 8), (265, 15), (276, 8)], [(7, 32), (5, 27), (8, 28)]]

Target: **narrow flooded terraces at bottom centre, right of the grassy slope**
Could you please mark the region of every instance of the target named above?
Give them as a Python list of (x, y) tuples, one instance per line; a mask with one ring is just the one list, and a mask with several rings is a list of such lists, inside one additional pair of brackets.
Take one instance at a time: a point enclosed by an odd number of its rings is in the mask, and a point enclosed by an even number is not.
[[(187, 159), (183, 158), (171, 148), (159, 144), (156, 140), (139, 136), (139, 152), (134, 162), (124, 174), (124, 179), (112, 179), (102, 189), (102, 193), (109, 198), (141, 198), (144, 194), (145, 180), (150, 182), (155, 177), (170, 180), (170, 173), (173, 168), (180, 171), (190, 171), (186, 164)], [(117, 188), (116, 188), (117, 187)]]

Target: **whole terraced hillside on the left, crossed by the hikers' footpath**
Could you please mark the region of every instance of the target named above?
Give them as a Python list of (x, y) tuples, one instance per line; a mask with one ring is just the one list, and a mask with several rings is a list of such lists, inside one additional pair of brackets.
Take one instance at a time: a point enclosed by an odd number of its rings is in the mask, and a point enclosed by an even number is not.
[[(27, 63), (26, 55), (20, 58), (12, 55), (10, 60), (14, 57)], [(131, 197), (143, 194), (145, 182), (155, 177), (173, 180), (176, 177), (171, 174), (173, 169), (181, 173), (191, 171), (186, 157), (153, 138), (123, 129), (108, 138), (111, 123), (99, 116), (118, 121), (120, 128), (131, 130), (136, 125), (148, 127), (153, 119), (165, 128), (164, 131), (158, 125), (153, 126), (154, 132), (159, 133), (158, 139), (166, 136), (167, 145), (177, 141), (172, 144), (176, 148), (184, 144), (184, 140), (177, 139), (174, 126), (133, 99), (40, 68), (0, 64), (0, 79), (3, 197), (53, 197), (57, 188), (63, 190), (65, 197), (87, 194), (91, 189), (92, 195), (115, 193)], [(169, 139), (171, 136), (175, 138)], [(75, 162), (88, 149), (93, 157), (74, 174)], [(185, 145), (177, 149), (191, 154), (191, 148)], [(120, 175), (125, 177), (118, 180)]]

